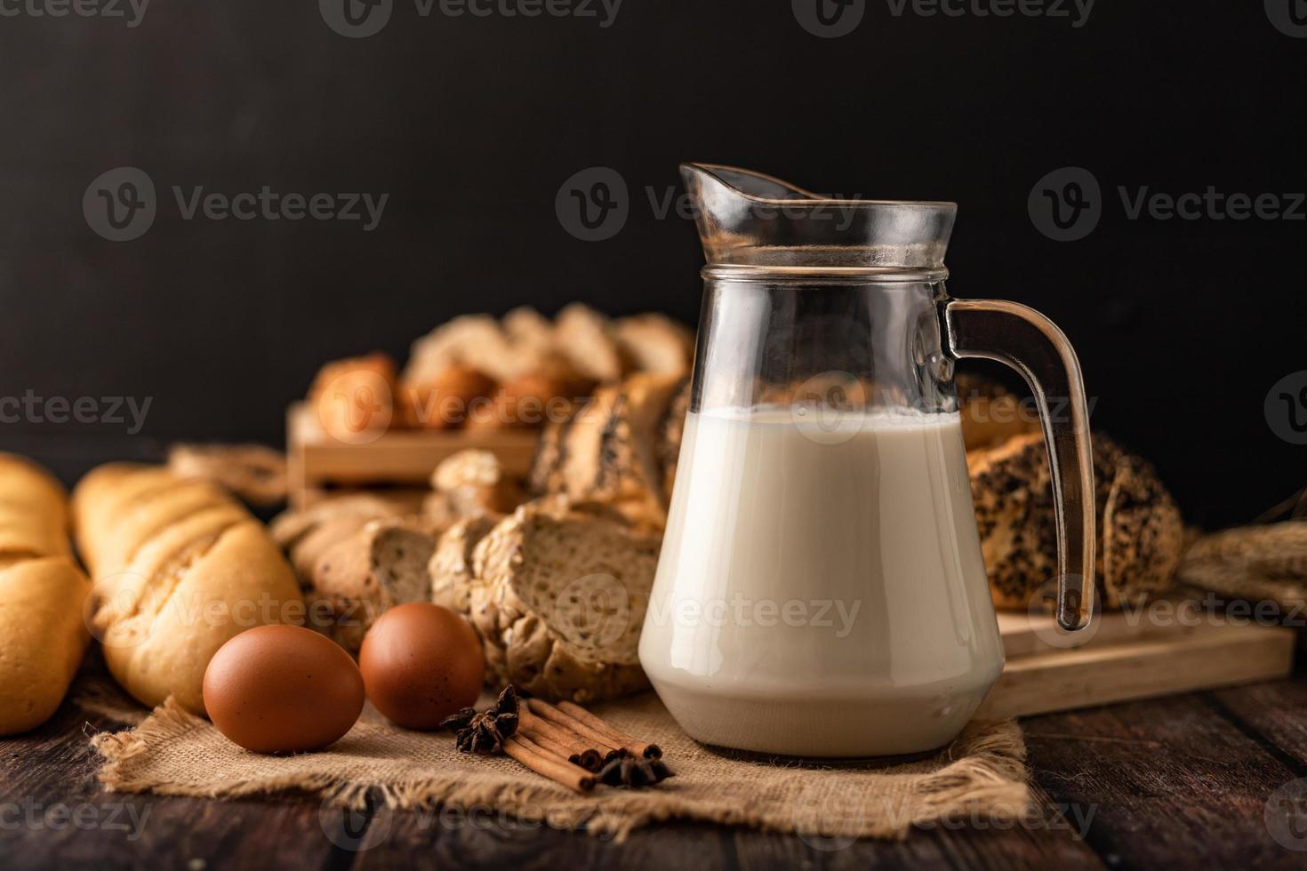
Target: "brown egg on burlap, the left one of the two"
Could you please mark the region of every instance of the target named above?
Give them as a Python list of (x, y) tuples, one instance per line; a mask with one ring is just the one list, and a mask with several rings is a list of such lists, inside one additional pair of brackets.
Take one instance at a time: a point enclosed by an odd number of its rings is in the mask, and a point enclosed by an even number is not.
[(363, 710), (363, 676), (331, 639), (298, 626), (260, 626), (213, 654), (204, 708), (218, 731), (256, 753), (333, 744)]

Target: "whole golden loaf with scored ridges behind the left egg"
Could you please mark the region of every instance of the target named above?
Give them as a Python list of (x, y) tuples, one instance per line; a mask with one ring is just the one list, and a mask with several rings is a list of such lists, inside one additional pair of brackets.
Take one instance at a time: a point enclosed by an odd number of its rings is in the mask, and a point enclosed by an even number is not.
[(209, 659), (244, 629), (298, 623), (305, 605), (267, 530), (220, 487), (111, 464), (73, 494), (95, 580), (93, 627), (114, 678), (141, 703), (204, 712)]

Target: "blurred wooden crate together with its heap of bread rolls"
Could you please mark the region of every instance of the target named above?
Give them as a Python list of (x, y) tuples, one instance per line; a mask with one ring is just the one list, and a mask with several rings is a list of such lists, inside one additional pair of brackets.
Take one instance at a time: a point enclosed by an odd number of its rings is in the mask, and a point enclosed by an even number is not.
[(689, 375), (694, 333), (663, 315), (609, 319), (572, 303), (464, 315), (418, 338), (400, 367), (370, 354), (325, 364), (286, 420), (290, 503), (339, 487), (422, 490), (468, 448), (525, 478), (550, 423), (631, 375)]

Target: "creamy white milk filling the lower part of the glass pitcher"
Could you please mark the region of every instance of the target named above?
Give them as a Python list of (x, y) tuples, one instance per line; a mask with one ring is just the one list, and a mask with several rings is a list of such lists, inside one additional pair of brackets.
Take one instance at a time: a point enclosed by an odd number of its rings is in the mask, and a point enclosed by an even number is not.
[(958, 415), (814, 414), (689, 415), (640, 662), (708, 744), (940, 747), (1002, 667)]

